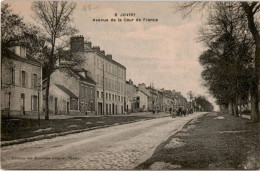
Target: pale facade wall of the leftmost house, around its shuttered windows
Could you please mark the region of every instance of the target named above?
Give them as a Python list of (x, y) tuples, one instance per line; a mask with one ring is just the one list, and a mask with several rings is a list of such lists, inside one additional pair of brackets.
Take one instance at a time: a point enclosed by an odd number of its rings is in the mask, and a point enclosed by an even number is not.
[[(25, 115), (35, 115), (37, 116), (38, 111), (33, 111), (32, 110), (32, 95), (38, 96), (38, 91), (37, 89), (34, 89), (32, 87), (32, 80), (31, 76), (32, 73), (37, 74), (37, 80), (39, 84), (41, 85), (41, 76), (42, 76), (42, 71), (41, 67), (31, 65), (25, 62), (20, 62), (17, 60), (13, 60), (13, 64), (15, 67), (15, 83), (11, 86), (6, 86), (6, 88), (3, 88), (1, 90), (1, 97), (2, 97), (2, 102), (1, 102), (1, 110), (2, 113), (5, 115), (8, 110), (8, 101), (9, 101), (9, 91), (11, 90), (11, 98), (10, 98), (10, 110), (11, 110), (11, 115), (19, 116), (22, 114), (22, 99), (21, 99), (21, 94), (23, 93), (25, 95)], [(20, 82), (20, 73), (21, 70), (24, 70), (26, 72), (26, 85), (23, 87)], [(8, 81), (9, 78), (11, 78), (10, 71), (8, 71), (4, 66), (2, 69), (2, 85), (5, 83), (9, 83)], [(40, 111), (42, 111), (42, 93), (40, 92), (39, 95), (40, 98)], [(37, 105), (38, 107), (38, 105)]]

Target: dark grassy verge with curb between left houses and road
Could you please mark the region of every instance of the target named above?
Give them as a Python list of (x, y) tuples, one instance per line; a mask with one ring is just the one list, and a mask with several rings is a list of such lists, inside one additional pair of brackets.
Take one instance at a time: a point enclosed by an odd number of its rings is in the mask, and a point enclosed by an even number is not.
[(73, 133), (128, 124), (170, 116), (169, 113), (150, 112), (132, 113), (116, 116), (71, 116), (59, 115), (50, 120), (41, 120), (40, 127), (37, 119), (4, 119), (1, 127), (1, 146), (37, 141), (45, 138), (64, 136)]

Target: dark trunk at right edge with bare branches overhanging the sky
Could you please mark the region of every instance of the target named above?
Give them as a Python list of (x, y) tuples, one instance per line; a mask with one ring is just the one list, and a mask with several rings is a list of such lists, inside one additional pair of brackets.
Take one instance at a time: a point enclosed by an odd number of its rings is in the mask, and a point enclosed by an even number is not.
[[(214, 11), (217, 2), (185, 2), (177, 7), (177, 11), (181, 11), (184, 16), (190, 15), (196, 9), (203, 9), (207, 7), (208, 10)], [(254, 53), (254, 81), (251, 87), (251, 116), (253, 122), (258, 122), (260, 119), (258, 108), (258, 86), (260, 81), (260, 34), (257, 28), (258, 22), (256, 15), (260, 11), (260, 2), (233, 2), (237, 9), (242, 9), (247, 17), (247, 25), (250, 33), (254, 39), (255, 53)]]

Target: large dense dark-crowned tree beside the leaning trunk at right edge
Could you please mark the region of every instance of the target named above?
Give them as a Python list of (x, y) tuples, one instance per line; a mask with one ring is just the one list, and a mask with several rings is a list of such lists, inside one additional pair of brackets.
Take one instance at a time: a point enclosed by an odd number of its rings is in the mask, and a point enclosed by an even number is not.
[(247, 97), (252, 83), (254, 47), (251, 36), (244, 32), (247, 27), (241, 27), (243, 14), (234, 13), (232, 3), (217, 3), (215, 9), (201, 30), (200, 40), (209, 48), (200, 56), (202, 78), (218, 103), (231, 102), (237, 116), (238, 99)]

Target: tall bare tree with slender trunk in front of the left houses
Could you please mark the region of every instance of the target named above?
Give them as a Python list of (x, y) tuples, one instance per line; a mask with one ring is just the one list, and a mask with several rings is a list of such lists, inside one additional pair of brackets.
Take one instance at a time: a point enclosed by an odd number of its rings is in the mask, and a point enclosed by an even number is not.
[[(83, 58), (72, 54), (66, 49), (68, 48), (66, 40), (77, 32), (77, 30), (72, 27), (72, 15), (75, 8), (76, 4), (68, 1), (35, 1), (32, 4), (34, 19), (40, 25), (45, 35), (43, 47), (40, 47), (40, 58), (44, 62), (44, 74), (46, 77), (46, 120), (49, 119), (48, 98), (51, 74), (57, 69), (78, 67), (84, 61)], [(61, 60), (65, 60), (67, 63), (61, 66), (59, 63)]]

